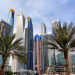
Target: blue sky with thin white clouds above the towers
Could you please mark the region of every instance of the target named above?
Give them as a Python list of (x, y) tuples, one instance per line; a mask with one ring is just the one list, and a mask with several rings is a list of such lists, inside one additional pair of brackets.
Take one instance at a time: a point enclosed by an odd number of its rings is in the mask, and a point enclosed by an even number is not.
[(42, 23), (50, 32), (52, 21), (75, 22), (75, 0), (0, 0), (0, 20), (7, 21), (8, 11), (15, 10), (14, 32), (16, 32), (16, 14), (22, 12), (32, 18), (34, 35), (40, 34)]

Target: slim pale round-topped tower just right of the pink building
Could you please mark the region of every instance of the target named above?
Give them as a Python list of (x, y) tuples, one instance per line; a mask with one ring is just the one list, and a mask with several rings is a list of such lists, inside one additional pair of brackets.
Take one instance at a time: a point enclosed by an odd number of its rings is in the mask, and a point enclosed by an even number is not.
[[(41, 42), (43, 43), (46, 38), (46, 26), (44, 23), (41, 24)], [(42, 63), (42, 71), (46, 71), (46, 68), (49, 67), (49, 60), (48, 60), (48, 50), (46, 49), (46, 45), (41, 45), (41, 63)]]

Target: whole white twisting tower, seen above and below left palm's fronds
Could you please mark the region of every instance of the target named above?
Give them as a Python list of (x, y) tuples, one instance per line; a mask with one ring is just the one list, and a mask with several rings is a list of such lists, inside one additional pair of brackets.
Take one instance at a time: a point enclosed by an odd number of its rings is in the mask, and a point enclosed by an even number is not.
[[(22, 13), (17, 14), (17, 31), (16, 31), (16, 39), (23, 38), (20, 44), (21, 46), (25, 46), (25, 16)], [(19, 72), (21, 68), (24, 68), (24, 63), (15, 56), (15, 59), (12, 60), (12, 71)]]

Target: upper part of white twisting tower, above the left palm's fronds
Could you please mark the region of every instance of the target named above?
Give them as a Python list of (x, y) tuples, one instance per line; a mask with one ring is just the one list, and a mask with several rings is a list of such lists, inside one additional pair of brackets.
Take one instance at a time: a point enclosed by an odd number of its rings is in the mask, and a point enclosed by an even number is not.
[(25, 16), (22, 13), (17, 14), (16, 39), (23, 38), (22, 46), (25, 46)]

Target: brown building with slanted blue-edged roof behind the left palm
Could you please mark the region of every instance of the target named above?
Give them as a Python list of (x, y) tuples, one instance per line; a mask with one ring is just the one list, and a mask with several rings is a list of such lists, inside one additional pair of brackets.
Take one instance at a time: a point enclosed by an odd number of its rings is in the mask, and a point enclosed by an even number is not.
[[(13, 31), (12, 25), (9, 24), (8, 22), (4, 21), (3, 19), (1, 19), (0, 33), (5, 35), (7, 32), (10, 36), (12, 36), (12, 31)], [(1, 37), (1, 35), (0, 35), (0, 37)], [(1, 67), (2, 63), (3, 63), (3, 60), (2, 60), (2, 56), (0, 55), (0, 67)], [(6, 60), (5, 70), (8, 70), (8, 65), (9, 65), (9, 58), (7, 58), (7, 60)]]

